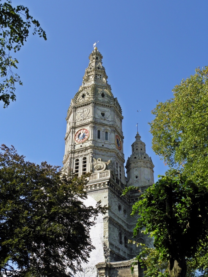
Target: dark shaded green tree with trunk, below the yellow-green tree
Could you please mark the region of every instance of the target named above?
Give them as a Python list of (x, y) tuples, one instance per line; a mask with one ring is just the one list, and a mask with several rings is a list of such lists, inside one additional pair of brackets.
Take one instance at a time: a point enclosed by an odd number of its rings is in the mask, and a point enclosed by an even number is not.
[[(207, 259), (207, 184), (195, 184), (182, 176), (162, 176), (133, 205), (132, 215), (136, 213), (140, 217), (134, 235), (142, 232), (154, 238), (155, 249), (143, 245), (137, 257), (148, 268), (146, 276), (185, 277), (187, 265), (190, 277), (196, 276), (195, 269), (206, 274), (203, 259)], [(200, 256), (200, 263), (196, 256)], [(168, 271), (162, 274), (160, 270), (167, 268), (166, 262)]]

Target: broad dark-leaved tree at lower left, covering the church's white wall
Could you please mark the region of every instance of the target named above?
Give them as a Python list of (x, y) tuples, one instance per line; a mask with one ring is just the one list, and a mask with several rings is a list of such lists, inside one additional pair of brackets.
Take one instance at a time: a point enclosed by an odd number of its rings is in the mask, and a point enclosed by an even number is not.
[(86, 178), (36, 165), (2, 145), (0, 153), (0, 276), (69, 276), (94, 249), (89, 230), (106, 212), (85, 206)]

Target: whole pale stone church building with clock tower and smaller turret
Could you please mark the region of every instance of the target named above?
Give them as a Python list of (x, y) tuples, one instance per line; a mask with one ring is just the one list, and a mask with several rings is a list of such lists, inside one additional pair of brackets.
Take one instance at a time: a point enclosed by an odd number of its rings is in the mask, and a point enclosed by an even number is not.
[[(119, 266), (120, 270), (126, 272), (127, 264), (130, 270), (130, 262), (127, 261), (138, 254), (135, 245), (128, 243), (137, 220), (130, 217), (130, 213), (138, 190), (123, 197), (121, 194), (126, 186), (137, 186), (141, 190), (154, 182), (154, 165), (145, 153), (145, 144), (139, 134), (132, 144), (125, 177), (122, 110), (107, 82), (102, 58), (95, 47), (89, 56), (82, 85), (71, 100), (66, 117), (64, 168), (72, 169), (78, 176), (90, 172), (85, 188), (87, 204), (95, 205), (101, 200), (103, 205), (111, 207), (107, 214), (97, 218), (97, 223), (91, 229), (91, 239), (96, 249), (92, 251), (89, 263), (83, 264), (85, 277), (110, 277), (115, 275), (114, 271), (119, 271)], [(147, 245), (151, 243), (148, 237), (136, 239)]]

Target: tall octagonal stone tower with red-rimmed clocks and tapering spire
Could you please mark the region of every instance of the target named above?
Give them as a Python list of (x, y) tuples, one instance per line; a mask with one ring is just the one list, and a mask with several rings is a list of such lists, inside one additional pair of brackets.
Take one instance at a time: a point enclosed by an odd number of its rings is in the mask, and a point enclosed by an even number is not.
[(126, 184), (122, 110), (107, 83), (102, 58), (95, 47), (82, 85), (68, 109), (63, 163), (78, 176), (91, 172), (98, 177), (111, 170), (117, 182)]

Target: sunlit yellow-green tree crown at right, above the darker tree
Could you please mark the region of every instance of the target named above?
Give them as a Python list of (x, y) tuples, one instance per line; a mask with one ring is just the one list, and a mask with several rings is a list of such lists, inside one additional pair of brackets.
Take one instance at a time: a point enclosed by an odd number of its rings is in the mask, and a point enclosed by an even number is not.
[(173, 89), (174, 98), (159, 103), (150, 123), (152, 148), (171, 168), (193, 181), (208, 176), (208, 67)]

